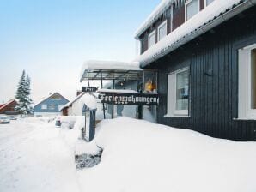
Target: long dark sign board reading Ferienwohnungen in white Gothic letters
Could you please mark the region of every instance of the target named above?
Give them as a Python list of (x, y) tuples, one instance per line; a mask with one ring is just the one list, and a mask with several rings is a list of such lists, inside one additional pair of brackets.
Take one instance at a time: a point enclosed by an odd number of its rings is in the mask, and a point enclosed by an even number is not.
[(114, 93), (101, 92), (99, 94), (101, 103), (113, 105), (158, 105), (157, 93)]

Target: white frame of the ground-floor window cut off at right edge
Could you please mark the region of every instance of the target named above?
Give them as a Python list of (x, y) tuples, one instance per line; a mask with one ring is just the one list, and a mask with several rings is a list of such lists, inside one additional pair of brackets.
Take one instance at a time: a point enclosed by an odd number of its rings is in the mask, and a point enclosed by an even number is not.
[(238, 118), (255, 119), (256, 110), (252, 109), (252, 56), (251, 51), (256, 49), (256, 44), (249, 45), (238, 51), (239, 66), (239, 100)]

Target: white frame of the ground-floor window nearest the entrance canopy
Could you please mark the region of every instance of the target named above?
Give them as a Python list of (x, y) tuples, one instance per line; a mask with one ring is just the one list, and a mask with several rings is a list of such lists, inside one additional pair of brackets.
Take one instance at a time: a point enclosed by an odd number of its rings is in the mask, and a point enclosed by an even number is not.
[[(189, 117), (190, 108), (190, 82), (189, 82), (189, 98), (188, 98), (188, 110), (176, 110), (176, 80), (177, 74), (188, 70), (190, 75), (189, 67), (176, 70), (168, 75), (168, 111), (165, 117)], [(190, 79), (189, 79), (190, 81)]]

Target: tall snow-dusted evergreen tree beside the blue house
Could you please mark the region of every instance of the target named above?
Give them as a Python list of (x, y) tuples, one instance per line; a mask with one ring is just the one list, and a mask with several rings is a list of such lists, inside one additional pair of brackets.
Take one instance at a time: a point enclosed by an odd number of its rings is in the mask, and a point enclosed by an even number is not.
[(31, 103), (32, 100), (30, 99), (30, 78), (27, 75), (25, 70), (22, 71), (21, 80), (18, 84), (17, 92), (15, 98), (18, 99), (18, 104), (15, 107), (16, 111), (19, 111), (21, 115), (27, 115), (32, 113)]

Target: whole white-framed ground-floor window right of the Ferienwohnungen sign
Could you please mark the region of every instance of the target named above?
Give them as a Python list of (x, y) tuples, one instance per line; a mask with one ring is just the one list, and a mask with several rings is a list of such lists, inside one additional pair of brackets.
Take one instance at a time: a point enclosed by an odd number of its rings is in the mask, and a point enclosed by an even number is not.
[(189, 68), (168, 75), (168, 116), (188, 116)]

